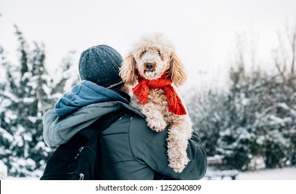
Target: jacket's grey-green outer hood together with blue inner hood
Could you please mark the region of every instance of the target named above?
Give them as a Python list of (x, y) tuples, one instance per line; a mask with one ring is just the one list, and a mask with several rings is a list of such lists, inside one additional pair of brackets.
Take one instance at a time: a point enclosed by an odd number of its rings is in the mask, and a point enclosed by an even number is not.
[(57, 101), (55, 109), (49, 109), (44, 114), (44, 142), (49, 147), (64, 144), (105, 114), (123, 107), (145, 118), (120, 93), (83, 81), (64, 94)]

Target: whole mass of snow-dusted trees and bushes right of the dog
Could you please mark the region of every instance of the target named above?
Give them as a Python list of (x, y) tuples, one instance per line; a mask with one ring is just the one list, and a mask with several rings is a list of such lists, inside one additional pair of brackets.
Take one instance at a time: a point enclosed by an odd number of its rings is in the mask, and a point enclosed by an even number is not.
[[(227, 166), (255, 170), (296, 165), (296, 28), (276, 52), (274, 71), (246, 70), (238, 48), (228, 91), (196, 94), (189, 114), (208, 155)], [(255, 61), (255, 60), (251, 60)]]

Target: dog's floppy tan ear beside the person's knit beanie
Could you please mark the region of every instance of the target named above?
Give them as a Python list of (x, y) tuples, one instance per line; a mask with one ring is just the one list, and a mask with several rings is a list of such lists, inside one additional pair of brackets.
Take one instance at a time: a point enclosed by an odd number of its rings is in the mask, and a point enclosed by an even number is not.
[(120, 76), (127, 85), (134, 85), (137, 80), (136, 60), (133, 54), (129, 53), (120, 67)]

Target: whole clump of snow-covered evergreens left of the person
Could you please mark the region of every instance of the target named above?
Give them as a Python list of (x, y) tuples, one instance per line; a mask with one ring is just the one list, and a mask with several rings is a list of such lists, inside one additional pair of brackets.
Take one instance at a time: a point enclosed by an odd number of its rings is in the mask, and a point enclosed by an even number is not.
[[(1, 72), (5, 72), (0, 80), (0, 160), (8, 166), (9, 175), (39, 176), (52, 152), (42, 138), (42, 116), (64, 92), (68, 77), (53, 82), (55, 79), (46, 71), (44, 45), (34, 43), (30, 50), (17, 27), (16, 35), (19, 62), (8, 62), (0, 49)], [(71, 66), (66, 61), (64, 72)], [(77, 73), (72, 76), (68, 80), (77, 80)], [(61, 85), (60, 89), (53, 90), (57, 85)]]

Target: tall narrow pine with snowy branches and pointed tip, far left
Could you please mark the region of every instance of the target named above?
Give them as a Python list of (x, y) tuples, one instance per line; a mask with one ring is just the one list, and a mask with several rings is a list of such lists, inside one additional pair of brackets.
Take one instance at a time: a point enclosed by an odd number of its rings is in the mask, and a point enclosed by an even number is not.
[[(33, 56), (30, 56), (28, 45), (22, 33), (16, 26), (16, 35), (19, 39), (19, 64), (8, 68), (7, 77), (10, 96), (14, 96), (10, 105), (13, 118), (7, 122), (6, 131), (13, 134), (13, 141), (9, 146), (11, 155), (8, 159), (10, 175), (26, 176), (38, 169), (41, 164), (36, 155), (42, 157), (38, 145), (42, 141), (42, 123), (39, 113), (39, 100), (42, 100), (37, 91), (37, 85), (41, 82), (40, 75), (34, 69), (44, 64), (44, 55), (40, 48), (36, 47)], [(35, 45), (36, 46), (36, 45)], [(41, 53), (41, 54), (40, 54)], [(44, 158), (46, 159), (46, 158)]]

